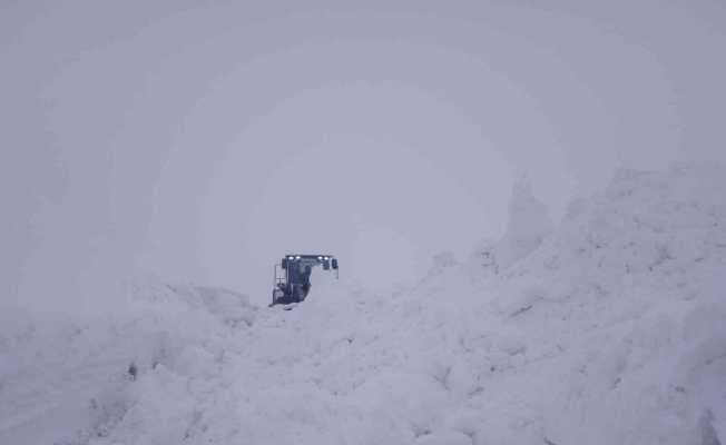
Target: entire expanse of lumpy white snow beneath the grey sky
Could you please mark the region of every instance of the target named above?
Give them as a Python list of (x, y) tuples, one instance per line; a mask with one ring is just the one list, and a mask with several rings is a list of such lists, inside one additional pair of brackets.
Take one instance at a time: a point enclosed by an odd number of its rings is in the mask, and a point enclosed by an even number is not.
[(393, 295), (145, 278), (112, 314), (3, 314), (0, 443), (723, 443), (724, 190), (624, 170), (555, 226), (523, 181), (501, 240)]

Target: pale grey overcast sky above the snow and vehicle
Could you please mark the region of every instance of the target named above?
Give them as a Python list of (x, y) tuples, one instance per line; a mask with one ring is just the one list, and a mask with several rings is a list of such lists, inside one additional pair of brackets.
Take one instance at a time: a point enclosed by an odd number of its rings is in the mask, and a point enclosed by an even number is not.
[(0, 2), (0, 303), (266, 303), (293, 251), (383, 287), (500, 236), (522, 175), (557, 218), (726, 159), (723, 1), (258, 3)]

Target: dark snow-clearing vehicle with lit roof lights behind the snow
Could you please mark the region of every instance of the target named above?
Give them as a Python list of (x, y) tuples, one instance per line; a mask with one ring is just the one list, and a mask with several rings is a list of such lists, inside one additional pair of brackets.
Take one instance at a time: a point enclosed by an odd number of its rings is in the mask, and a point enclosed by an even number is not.
[(305, 300), (311, 289), (310, 276), (313, 268), (322, 266), (323, 270), (335, 270), (337, 277), (337, 258), (332, 255), (286, 255), (275, 264), (275, 277), (272, 303), (290, 305)]

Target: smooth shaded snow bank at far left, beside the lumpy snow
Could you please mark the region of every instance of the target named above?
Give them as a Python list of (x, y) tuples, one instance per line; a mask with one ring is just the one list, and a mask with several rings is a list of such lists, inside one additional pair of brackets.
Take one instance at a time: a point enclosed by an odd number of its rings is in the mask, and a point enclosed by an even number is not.
[(257, 313), (229, 290), (153, 278), (135, 280), (127, 296), (124, 310), (102, 316), (2, 314), (1, 444), (88, 443), (107, 434), (137, 403), (139, 375), (223, 342)]

